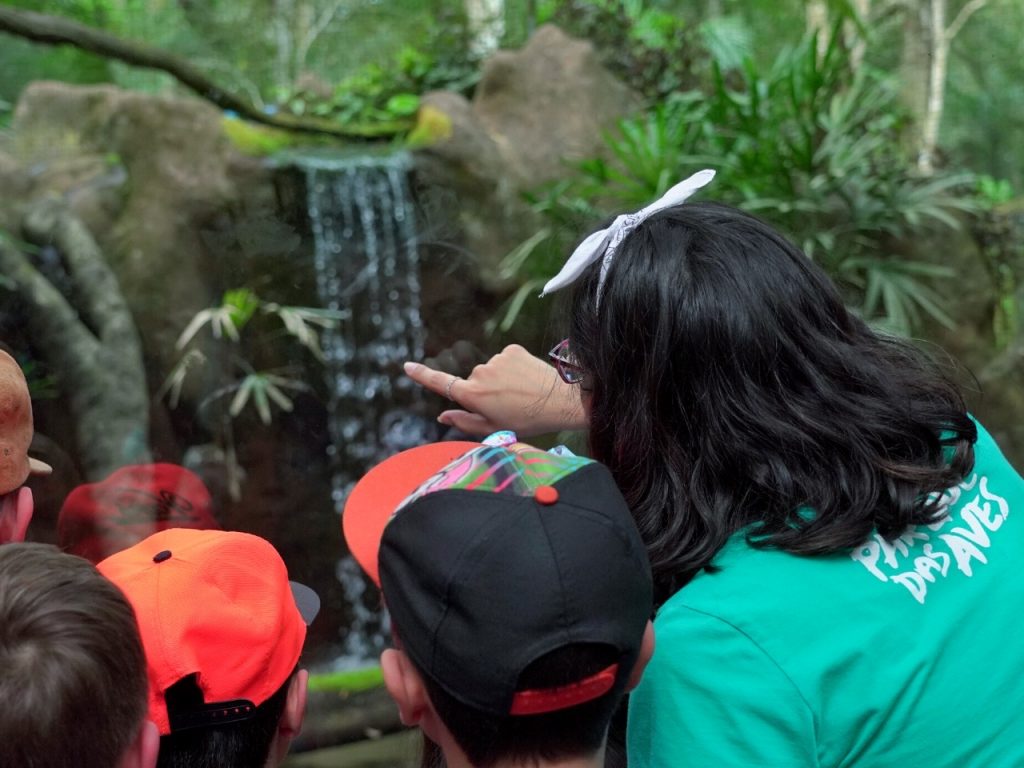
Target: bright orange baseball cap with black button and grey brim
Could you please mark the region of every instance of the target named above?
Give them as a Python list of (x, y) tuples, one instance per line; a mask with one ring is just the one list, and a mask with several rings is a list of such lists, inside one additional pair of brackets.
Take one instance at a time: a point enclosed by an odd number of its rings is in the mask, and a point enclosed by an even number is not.
[[(135, 609), (148, 717), (162, 735), (252, 716), (295, 670), (319, 609), (270, 543), (250, 534), (170, 528), (97, 568)], [(168, 689), (190, 676), (202, 701), (168, 707)]]

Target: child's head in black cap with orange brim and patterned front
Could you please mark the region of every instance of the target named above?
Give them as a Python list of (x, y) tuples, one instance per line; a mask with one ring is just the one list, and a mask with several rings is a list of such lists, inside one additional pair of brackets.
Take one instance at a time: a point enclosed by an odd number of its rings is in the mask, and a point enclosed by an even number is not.
[(436, 443), (371, 470), (345, 537), (399, 645), (407, 721), (470, 762), (592, 755), (652, 638), (650, 572), (607, 470), (519, 443)]

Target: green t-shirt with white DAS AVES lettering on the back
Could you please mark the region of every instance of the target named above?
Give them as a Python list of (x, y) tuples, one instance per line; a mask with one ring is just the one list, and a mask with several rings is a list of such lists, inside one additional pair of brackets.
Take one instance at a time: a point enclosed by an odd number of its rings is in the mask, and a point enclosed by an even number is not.
[(736, 537), (674, 595), (631, 768), (1024, 766), (1024, 480), (978, 433), (940, 523), (814, 557)]

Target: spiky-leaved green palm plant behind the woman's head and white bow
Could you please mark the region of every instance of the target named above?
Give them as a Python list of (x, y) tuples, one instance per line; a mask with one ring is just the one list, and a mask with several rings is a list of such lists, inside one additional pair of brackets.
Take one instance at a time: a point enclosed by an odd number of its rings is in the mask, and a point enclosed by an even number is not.
[[(971, 177), (918, 177), (900, 150), (904, 118), (891, 81), (852, 72), (838, 34), (820, 55), (817, 48), (808, 38), (767, 72), (748, 59), (738, 79), (716, 66), (708, 92), (674, 95), (623, 121), (606, 137), (606, 157), (580, 163), (575, 178), (554, 188), (554, 199), (535, 198), (535, 207), (561, 222), (593, 222), (716, 168), (713, 196), (781, 228), (866, 318), (899, 333), (926, 316), (949, 326), (933, 287), (949, 270), (909, 254), (912, 243), (957, 227), (961, 214), (977, 209)], [(552, 233), (529, 250), (550, 275), (550, 255), (568, 246)], [(526, 261), (508, 263), (532, 285)]]

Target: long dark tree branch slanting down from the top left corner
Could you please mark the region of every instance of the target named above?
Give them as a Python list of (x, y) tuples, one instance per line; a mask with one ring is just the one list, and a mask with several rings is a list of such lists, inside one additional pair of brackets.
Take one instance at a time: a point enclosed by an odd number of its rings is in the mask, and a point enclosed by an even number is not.
[[(222, 110), (238, 113), (254, 123), (301, 133), (318, 133), (339, 138), (373, 138), (388, 135), (395, 125), (339, 125), (331, 120), (287, 113), (268, 115), (249, 100), (221, 88), (189, 61), (144, 43), (110, 35), (101, 30), (59, 16), (34, 13), (0, 5), (0, 32), (46, 45), (74, 45), (82, 50), (115, 58), (135, 67), (166, 72), (198, 95)], [(401, 127), (406, 127), (402, 125)]]

